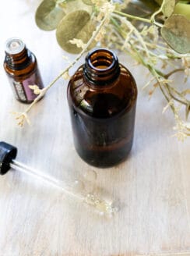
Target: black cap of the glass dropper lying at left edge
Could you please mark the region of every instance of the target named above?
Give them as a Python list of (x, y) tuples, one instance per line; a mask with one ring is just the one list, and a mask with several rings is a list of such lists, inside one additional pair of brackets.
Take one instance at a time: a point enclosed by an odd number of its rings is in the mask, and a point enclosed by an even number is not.
[(0, 174), (3, 175), (10, 169), (12, 159), (16, 158), (17, 148), (0, 141)]

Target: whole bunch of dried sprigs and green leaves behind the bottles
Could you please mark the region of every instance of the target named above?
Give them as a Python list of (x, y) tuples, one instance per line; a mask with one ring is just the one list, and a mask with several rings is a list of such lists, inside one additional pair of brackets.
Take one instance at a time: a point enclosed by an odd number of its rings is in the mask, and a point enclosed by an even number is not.
[[(188, 119), (190, 90), (186, 88), (179, 91), (171, 81), (171, 76), (174, 73), (184, 72), (185, 81), (188, 80), (190, 73), (190, 21), (187, 12), (173, 14), (173, 12), (178, 13), (180, 1), (176, 4), (175, 0), (156, 0), (160, 7), (147, 1), (147, 6), (151, 5), (152, 10), (146, 8), (145, 0), (142, 2), (139, 0), (138, 11), (140, 10), (140, 13), (134, 15), (130, 9), (136, 7), (137, 1), (59, 0), (55, 2), (55, 0), (48, 0), (52, 3), (50, 13), (52, 6), (55, 5), (55, 13), (58, 12), (59, 19), (55, 19), (55, 16), (53, 18), (51, 15), (48, 16), (46, 2), (47, 0), (44, 0), (37, 9), (37, 26), (44, 30), (52, 30), (57, 27), (56, 36), (60, 46), (67, 52), (79, 52), (79, 55), (73, 62), (69, 62), (66, 69), (48, 87), (40, 91), (33, 103), (26, 108), (22, 116), (23, 119), (59, 78), (69, 78), (69, 69), (75, 65), (84, 52), (93, 47), (94, 41), (98, 41), (102, 46), (118, 48), (122, 52), (132, 55), (133, 59), (150, 71), (153, 78), (145, 86), (150, 87), (152, 84), (150, 97), (157, 88), (160, 88), (167, 100), (164, 112), (167, 108), (171, 108), (174, 112), (176, 136), (181, 140), (190, 136), (189, 123), (181, 119), (178, 110), (179, 106), (180, 109), (185, 108), (185, 118)], [(72, 27), (75, 27), (75, 30), (72, 30)], [(68, 33), (68, 31), (73, 33)], [(160, 33), (164, 40), (160, 37)], [(181, 65), (179, 66), (180, 59)], [(164, 69), (168, 67), (170, 72), (164, 73), (160, 66)], [(37, 90), (34, 87), (33, 89)]]

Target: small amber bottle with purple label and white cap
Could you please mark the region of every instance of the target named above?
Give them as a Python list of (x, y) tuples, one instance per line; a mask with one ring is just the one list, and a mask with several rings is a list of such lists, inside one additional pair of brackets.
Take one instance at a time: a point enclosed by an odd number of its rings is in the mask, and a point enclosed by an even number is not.
[(4, 69), (18, 101), (31, 103), (37, 94), (30, 85), (43, 88), (35, 55), (19, 38), (10, 38), (5, 44)]

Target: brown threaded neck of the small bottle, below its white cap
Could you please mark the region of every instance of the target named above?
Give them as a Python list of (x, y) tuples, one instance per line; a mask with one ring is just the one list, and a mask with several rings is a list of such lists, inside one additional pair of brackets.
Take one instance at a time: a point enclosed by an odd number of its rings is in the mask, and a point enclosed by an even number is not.
[(23, 51), (17, 54), (9, 54), (5, 52), (5, 63), (13, 70), (26, 68), (26, 66), (30, 64), (31, 59), (32, 54), (27, 48), (23, 48)]

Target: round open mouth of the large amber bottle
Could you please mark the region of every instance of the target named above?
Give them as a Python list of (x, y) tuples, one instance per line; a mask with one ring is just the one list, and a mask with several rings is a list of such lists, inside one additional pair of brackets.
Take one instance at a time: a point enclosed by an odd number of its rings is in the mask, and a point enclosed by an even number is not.
[(90, 54), (89, 65), (92, 69), (107, 70), (114, 66), (114, 59), (117, 57), (113, 52), (99, 49)]

